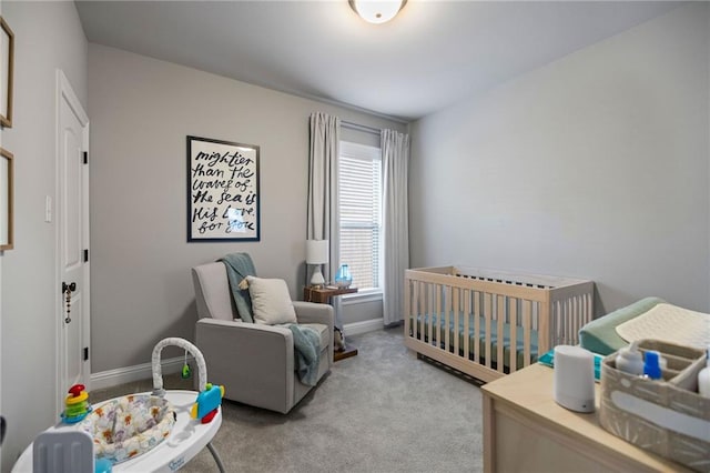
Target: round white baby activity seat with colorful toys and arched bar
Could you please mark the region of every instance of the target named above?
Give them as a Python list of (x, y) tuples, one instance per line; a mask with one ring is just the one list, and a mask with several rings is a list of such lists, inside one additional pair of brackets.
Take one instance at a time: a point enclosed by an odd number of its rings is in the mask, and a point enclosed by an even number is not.
[[(169, 345), (181, 346), (194, 356), (195, 375), (199, 378), (199, 389), (194, 391), (163, 389), (160, 354)], [(222, 424), (222, 412), (219, 409), (224, 393), (223, 388), (207, 383), (207, 366), (200, 350), (184, 339), (163, 339), (153, 349), (153, 391), (138, 394), (126, 394), (89, 407), (84, 386), (75, 385), (67, 397), (67, 411), (62, 413), (62, 422), (45, 432), (62, 432), (68, 434), (84, 434), (92, 449), (78, 451), (71, 446), (57, 453), (55, 450), (44, 449), (47, 455), (58, 459), (61, 465), (64, 460), (74, 455), (95, 457), (95, 469), (70, 466), (72, 473), (109, 473), (113, 471), (131, 472), (173, 472), (193, 459), (204, 446), (217, 464), (219, 471), (224, 472), (224, 465), (211, 441)], [(195, 403), (195, 400), (197, 401)], [(192, 406), (191, 409), (182, 406)], [(180, 406), (175, 409), (174, 406)], [(79, 413), (84, 407), (85, 417), (79, 425)], [(201, 423), (195, 421), (200, 412)], [(83, 412), (82, 412), (83, 413)], [(151, 426), (152, 425), (152, 426)], [(170, 425), (170, 426), (169, 426)], [(160, 432), (153, 430), (160, 429)], [(59, 471), (42, 467), (49, 463), (34, 455), (34, 450), (41, 442), (33, 442), (18, 459), (13, 471), (43, 472)], [(136, 445), (138, 443), (138, 445)], [(146, 452), (152, 454), (144, 455)], [(37, 462), (37, 463), (36, 463)], [(73, 462), (73, 460), (72, 460)], [(125, 466), (122, 464), (126, 462)], [(129, 465), (130, 462), (130, 465)], [(71, 463), (75, 465), (75, 463)], [(69, 471), (64, 469), (64, 471)]]

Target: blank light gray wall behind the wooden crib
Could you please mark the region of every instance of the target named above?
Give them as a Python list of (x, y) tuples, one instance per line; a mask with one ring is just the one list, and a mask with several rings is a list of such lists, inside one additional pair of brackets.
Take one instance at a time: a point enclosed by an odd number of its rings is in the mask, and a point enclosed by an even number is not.
[(693, 4), (413, 124), (414, 266), (588, 278), (708, 311), (709, 18)]

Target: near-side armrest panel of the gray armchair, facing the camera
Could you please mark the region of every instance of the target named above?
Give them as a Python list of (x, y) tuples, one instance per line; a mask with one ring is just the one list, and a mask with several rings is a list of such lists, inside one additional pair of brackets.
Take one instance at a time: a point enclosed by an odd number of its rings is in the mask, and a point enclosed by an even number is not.
[(288, 411), (294, 397), (291, 330), (200, 319), (195, 332), (196, 345), (207, 365), (207, 382), (224, 385), (225, 397), (284, 413)]

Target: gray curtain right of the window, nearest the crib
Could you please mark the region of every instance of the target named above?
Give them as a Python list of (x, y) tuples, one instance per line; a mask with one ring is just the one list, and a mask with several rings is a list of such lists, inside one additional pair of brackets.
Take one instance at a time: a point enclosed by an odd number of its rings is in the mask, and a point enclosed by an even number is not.
[(409, 205), (407, 172), (409, 135), (382, 131), (384, 168), (384, 295), (385, 325), (404, 319), (404, 271), (409, 268)]

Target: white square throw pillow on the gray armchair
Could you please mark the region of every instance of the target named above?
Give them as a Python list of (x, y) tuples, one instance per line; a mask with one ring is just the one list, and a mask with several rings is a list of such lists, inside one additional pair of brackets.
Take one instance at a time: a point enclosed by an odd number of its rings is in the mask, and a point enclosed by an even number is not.
[(246, 282), (252, 298), (254, 322), (265, 325), (296, 323), (296, 311), (293, 309), (286, 281), (246, 276)]

